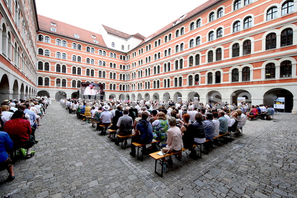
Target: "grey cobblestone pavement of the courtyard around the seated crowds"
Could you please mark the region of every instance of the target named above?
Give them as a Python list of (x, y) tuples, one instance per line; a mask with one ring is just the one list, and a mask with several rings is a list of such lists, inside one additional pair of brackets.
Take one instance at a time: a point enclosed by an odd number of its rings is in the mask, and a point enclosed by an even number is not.
[[(296, 198), (297, 115), (247, 121), (244, 135), (202, 159), (183, 153), (163, 178), (154, 160), (129, 155), (107, 136), (53, 102), (37, 130), (35, 156), (15, 163), (16, 178), (0, 184), (13, 198)], [(8, 176), (0, 172), (0, 182)]]

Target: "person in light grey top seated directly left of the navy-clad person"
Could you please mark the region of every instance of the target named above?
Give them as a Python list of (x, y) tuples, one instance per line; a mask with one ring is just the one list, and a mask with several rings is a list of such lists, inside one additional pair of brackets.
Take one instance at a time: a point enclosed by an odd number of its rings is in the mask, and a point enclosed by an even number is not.
[[(116, 126), (118, 127), (118, 130), (116, 131), (116, 133), (118, 135), (121, 136), (127, 136), (132, 134), (132, 129), (133, 129), (133, 119), (132, 117), (130, 117), (129, 114), (129, 110), (128, 109), (124, 109), (123, 111), (123, 116), (119, 118)], [(115, 139), (115, 143), (116, 145), (119, 145), (118, 139)]]

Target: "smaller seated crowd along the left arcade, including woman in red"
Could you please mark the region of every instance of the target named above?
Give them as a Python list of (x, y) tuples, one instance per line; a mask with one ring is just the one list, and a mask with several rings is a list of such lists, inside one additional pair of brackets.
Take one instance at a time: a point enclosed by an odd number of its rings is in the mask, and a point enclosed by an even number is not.
[(35, 130), (41, 126), (41, 118), (50, 104), (50, 98), (36, 97), (20, 100), (4, 100), (0, 106), (0, 170), (9, 173), (6, 182), (14, 180), (13, 151), (27, 149), (26, 158), (35, 152), (31, 148), (35, 140)]

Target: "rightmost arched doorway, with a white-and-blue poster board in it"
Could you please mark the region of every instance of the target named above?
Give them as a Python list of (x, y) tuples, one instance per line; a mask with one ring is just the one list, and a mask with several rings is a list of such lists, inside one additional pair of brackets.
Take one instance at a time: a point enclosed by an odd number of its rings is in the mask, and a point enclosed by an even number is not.
[[(275, 102), (275, 100), (278, 102)], [(293, 109), (293, 94), (290, 91), (281, 88), (272, 89), (264, 94), (263, 104), (273, 105), (273, 107), (280, 112), (291, 113)]]

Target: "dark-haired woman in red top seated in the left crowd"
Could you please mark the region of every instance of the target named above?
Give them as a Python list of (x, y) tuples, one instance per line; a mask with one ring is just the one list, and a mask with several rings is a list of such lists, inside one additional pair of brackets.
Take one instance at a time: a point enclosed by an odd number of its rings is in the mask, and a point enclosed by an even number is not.
[(3, 128), (3, 131), (7, 132), (10, 139), (13, 142), (14, 148), (26, 148), (27, 149), (27, 158), (31, 157), (31, 148), (32, 143), (29, 143), (28, 140), (32, 134), (31, 124), (29, 120), (25, 120), (24, 111), (17, 110), (11, 117), (11, 120), (8, 120)]

